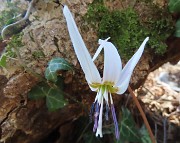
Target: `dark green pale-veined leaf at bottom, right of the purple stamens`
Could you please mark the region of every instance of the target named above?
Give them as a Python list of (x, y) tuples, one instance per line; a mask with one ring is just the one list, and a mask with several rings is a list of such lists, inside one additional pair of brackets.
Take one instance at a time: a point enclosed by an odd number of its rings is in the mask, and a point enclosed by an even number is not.
[(122, 121), (120, 123), (120, 135), (122, 140), (130, 142), (141, 142), (141, 137), (138, 129), (135, 127), (136, 124), (130, 111), (127, 108), (122, 108)]

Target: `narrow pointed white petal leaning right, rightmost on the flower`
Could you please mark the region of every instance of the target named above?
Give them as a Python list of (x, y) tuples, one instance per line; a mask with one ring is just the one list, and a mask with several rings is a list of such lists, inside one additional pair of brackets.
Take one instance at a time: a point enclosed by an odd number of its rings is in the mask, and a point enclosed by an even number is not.
[(117, 83), (117, 86), (119, 87), (119, 91), (117, 92), (118, 94), (123, 94), (127, 90), (132, 72), (136, 64), (138, 63), (144, 51), (145, 44), (148, 40), (149, 40), (149, 37), (147, 37), (143, 41), (140, 48), (137, 50), (137, 52), (132, 56), (132, 58), (128, 61), (128, 63), (123, 68), (121, 75), (119, 77), (119, 81)]

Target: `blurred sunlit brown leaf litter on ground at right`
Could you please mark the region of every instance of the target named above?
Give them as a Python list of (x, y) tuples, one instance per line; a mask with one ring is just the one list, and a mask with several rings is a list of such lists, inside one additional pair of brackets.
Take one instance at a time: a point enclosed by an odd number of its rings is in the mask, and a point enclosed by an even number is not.
[(169, 143), (180, 143), (180, 62), (166, 63), (151, 72), (136, 93), (154, 123), (155, 136)]

